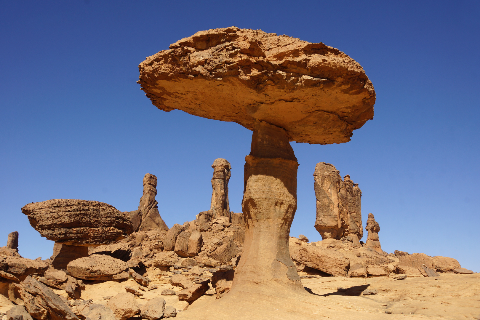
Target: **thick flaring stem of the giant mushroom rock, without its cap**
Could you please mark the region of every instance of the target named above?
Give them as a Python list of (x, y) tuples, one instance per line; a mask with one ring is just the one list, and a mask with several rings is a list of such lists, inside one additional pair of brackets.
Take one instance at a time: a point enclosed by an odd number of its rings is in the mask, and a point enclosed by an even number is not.
[(232, 290), (280, 284), (303, 291), (288, 252), (298, 162), (285, 130), (257, 121), (245, 162), (242, 211), (247, 225)]

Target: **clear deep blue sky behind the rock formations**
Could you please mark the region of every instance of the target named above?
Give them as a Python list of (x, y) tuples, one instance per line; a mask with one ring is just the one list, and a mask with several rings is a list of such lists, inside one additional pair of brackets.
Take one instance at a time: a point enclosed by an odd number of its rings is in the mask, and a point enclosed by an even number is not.
[[(168, 226), (209, 209), (210, 167), (232, 165), (241, 211), (252, 132), (163, 112), (138, 64), (197, 31), (235, 25), (324, 42), (356, 59), (377, 94), (351, 142), (292, 143), (299, 160), (291, 235), (313, 227), (313, 170), (331, 163), (362, 190), (382, 248), (456, 258), (480, 272), (479, 1), (1, 1), (0, 246), (19, 231), (27, 258), (52, 254), (20, 208), (55, 198), (138, 207), (158, 177)], [(365, 240), (365, 239), (364, 239)]]

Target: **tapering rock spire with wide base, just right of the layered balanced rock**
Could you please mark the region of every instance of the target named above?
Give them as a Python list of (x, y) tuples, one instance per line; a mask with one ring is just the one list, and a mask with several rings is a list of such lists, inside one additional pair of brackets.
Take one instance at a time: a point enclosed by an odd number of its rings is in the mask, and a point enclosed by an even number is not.
[(156, 176), (149, 173), (144, 176), (144, 193), (140, 199), (138, 213), (133, 214), (134, 217), (140, 216), (141, 223), (138, 230), (134, 231), (150, 231), (158, 228), (168, 230), (168, 226), (158, 212), (158, 201), (155, 200), (156, 184)]

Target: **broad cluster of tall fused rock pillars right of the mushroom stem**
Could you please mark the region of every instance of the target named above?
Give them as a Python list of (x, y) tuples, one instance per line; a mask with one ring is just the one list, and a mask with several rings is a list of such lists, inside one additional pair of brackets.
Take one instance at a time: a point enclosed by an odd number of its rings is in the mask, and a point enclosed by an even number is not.
[(361, 222), (361, 190), (350, 176), (340, 178), (335, 166), (320, 162), (313, 173), (317, 218), (315, 228), (322, 239), (350, 237), (360, 246), (363, 236)]

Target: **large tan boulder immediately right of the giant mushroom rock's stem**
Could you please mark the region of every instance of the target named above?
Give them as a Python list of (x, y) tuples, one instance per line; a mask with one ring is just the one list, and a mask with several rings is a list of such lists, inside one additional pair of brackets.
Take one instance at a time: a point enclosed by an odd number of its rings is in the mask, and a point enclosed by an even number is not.
[(347, 276), (350, 262), (338, 251), (322, 247), (302, 246), (292, 258), (307, 267), (334, 276)]

